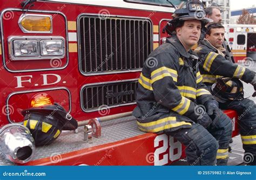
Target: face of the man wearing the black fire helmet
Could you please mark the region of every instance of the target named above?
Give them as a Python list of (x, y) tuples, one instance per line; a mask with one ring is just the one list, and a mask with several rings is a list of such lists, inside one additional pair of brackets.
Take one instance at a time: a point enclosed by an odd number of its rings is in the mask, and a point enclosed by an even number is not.
[(186, 20), (182, 27), (176, 28), (177, 37), (181, 44), (188, 51), (192, 46), (197, 44), (201, 34), (201, 21)]

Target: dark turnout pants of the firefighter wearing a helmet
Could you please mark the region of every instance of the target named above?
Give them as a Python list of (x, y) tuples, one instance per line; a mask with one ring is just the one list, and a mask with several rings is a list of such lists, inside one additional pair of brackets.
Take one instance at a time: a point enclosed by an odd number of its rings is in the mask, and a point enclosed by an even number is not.
[(187, 161), (190, 165), (227, 165), (232, 123), (222, 111), (215, 118), (217, 120), (213, 120), (207, 129), (193, 123), (191, 128), (181, 128), (168, 133), (186, 146)]

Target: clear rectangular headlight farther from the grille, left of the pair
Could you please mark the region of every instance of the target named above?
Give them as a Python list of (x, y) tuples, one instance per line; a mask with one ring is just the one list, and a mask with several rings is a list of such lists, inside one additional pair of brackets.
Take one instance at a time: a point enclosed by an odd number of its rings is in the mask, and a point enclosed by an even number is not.
[(35, 40), (15, 40), (14, 42), (14, 56), (38, 56), (39, 48), (38, 41)]

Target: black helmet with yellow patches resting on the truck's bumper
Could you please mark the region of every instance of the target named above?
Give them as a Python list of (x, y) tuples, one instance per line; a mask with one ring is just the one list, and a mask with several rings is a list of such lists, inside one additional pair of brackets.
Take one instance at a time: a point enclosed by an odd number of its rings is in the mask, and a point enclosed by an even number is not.
[(75, 130), (77, 121), (59, 104), (44, 105), (23, 110), (24, 126), (28, 127), (36, 146), (48, 145), (62, 130)]

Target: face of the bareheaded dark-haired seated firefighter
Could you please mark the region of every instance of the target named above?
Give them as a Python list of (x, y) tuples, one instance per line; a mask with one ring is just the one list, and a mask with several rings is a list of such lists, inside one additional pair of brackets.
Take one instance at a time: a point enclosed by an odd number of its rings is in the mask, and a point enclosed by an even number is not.
[(212, 28), (211, 34), (205, 35), (205, 38), (211, 42), (215, 48), (222, 47), (224, 42), (225, 29), (224, 28)]

